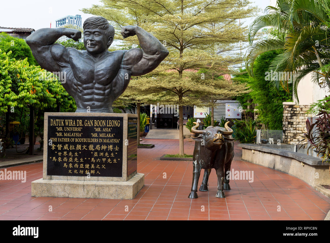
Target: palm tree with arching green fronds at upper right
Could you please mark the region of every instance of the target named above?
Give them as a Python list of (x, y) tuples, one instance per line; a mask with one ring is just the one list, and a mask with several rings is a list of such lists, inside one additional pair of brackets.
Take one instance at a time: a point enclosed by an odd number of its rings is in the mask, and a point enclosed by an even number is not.
[[(249, 27), (250, 47), (246, 54), (246, 67), (253, 76), (253, 63), (264, 52), (282, 50), (269, 66), (269, 71), (292, 72), (293, 96), (298, 101), (300, 80), (312, 72), (314, 82), (330, 88), (330, 34), (327, 0), (278, 0), (277, 7), (268, 6), (267, 14), (257, 17)], [(253, 43), (264, 27), (276, 30), (275, 38)], [(288, 90), (288, 80), (272, 79), (274, 86)]]

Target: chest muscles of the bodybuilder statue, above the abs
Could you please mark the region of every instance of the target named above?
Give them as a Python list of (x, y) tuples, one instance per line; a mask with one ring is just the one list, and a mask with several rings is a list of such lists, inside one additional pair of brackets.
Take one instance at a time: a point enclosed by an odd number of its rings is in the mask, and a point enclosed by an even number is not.
[(90, 57), (69, 56), (70, 65), (75, 78), (81, 83), (95, 82), (108, 85), (116, 77), (120, 63), (114, 57), (93, 60)]

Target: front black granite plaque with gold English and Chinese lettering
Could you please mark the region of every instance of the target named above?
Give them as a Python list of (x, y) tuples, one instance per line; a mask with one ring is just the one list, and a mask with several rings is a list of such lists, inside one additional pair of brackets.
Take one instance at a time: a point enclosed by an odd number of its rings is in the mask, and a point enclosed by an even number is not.
[(122, 177), (123, 117), (49, 116), (47, 175)]

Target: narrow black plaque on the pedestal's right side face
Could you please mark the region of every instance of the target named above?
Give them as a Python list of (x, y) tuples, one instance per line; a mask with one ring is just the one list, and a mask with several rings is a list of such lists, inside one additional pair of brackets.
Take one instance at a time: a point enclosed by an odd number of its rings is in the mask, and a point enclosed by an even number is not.
[(127, 176), (137, 170), (138, 153), (138, 119), (128, 117), (127, 123)]

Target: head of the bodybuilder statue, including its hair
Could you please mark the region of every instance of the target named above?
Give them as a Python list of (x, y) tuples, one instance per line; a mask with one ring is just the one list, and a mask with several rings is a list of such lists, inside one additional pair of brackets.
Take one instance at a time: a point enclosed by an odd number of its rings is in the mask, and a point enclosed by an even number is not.
[(98, 54), (114, 41), (115, 28), (103, 17), (89, 17), (83, 23), (83, 43), (86, 51)]

